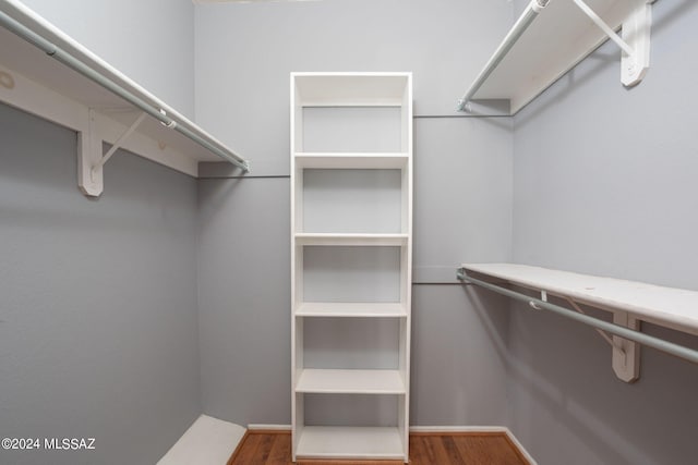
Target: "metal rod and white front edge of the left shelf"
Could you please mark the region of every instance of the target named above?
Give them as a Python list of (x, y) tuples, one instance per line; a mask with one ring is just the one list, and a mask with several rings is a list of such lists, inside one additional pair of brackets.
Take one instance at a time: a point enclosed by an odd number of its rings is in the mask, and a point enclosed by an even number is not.
[[(68, 36), (62, 34), (59, 29), (56, 29), (55, 27), (52, 27), (49, 23), (47, 23), (41, 17), (36, 16), (36, 14), (33, 11), (28, 10), (26, 7), (19, 4), (17, 2), (12, 0), (5, 0), (3, 1), (3, 3), (10, 3), (15, 9), (20, 10), (23, 14), (25, 14), (27, 17), (32, 20), (34, 26), (40, 32), (43, 33), (48, 32), (50, 34), (62, 37), (69, 41), (72, 41), (72, 39), (68, 38)], [(0, 11), (0, 25), (5, 27), (8, 30), (12, 32), (13, 34), (17, 35), (22, 39), (26, 40), (27, 42), (39, 48), (49, 57), (55, 58), (56, 60), (71, 68), (72, 70), (87, 77), (88, 79), (95, 82), (96, 84), (100, 85), (101, 87), (106, 88), (112, 94), (127, 100), (129, 103), (133, 105), (134, 107), (143, 110), (145, 113), (158, 120), (165, 126), (177, 131), (178, 133), (190, 138), (191, 140), (195, 142), (196, 144), (206, 148), (207, 150), (212, 151), (218, 157), (225, 160), (228, 160), (232, 164), (241, 168), (245, 172), (250, 171), (250, 164), (248, 160), (243, 159), (236, 152), (225, 147), (220, 142), (216, 140), (210, 135), (203, 132), (201, 129), (198, 129), (189, 120), (186, 120), (184, 117), (179, 115), (180, 118), (178, 118), (178, 120), (174, 120), (168, 117), (167, 110), (166, 110), (166, 108), (168, 108), (167, 105), (165, 105), (164, 102), (160, 102), (157, 98), (155, 98), (153, 95), (148, 94), (147, 91), (143, 90), (140, 93), (141, 95), (136, 95), (134, 91), (124, 88), (123, 86), (116, 83), (115, 79), (107, 77), (104, 74), (99, 73), (98, 71), (94, 70), (92, 66), (87, 65), (86, 63), (75, 58), (68, 51), (61, 49), (50, 40), (47, 40), (46, 38), (44, 38), (39, 33), (31, 29), (29, 27), (25, 26), (24, 24), (20, 23), (19, 21), (16, 21), (15, 19), (13, 19), (12, 16), (8, 15), (2, 11)], [(100, 65), (100, 68), (103, 68), (105, 71), (107, 71), (107, 73), (116, 75), (117, 78), (125, 81), (130, 85), (130, 87), (133, 87), (136, 90), (140, 90), (140, 86), (137, 84), (131, 82), (128, 77), (117, 72), (116, 70), (111, 69), (111, 66), (103, 62), (99, 58), (94, 56), (87, 49), (80, 48), (80, 50), (82, 53), (93, 59), (93, 61), (95, 61), (98, 65)], [(151, 101), (148, 102), (147, 100), (151, 100)], [(169, 110), (169, 111), (170, 113), (174, 112), (173, 110)]]

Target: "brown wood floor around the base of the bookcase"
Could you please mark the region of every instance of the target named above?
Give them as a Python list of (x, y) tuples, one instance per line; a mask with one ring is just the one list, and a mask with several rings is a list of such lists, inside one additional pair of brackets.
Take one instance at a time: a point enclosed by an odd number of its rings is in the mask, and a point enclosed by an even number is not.
[[(289, 465), (288, 431), (248, 431), (228, 465)], [(410, 435), (411, 465), (529, 465), (504, 432)], [(297, 465), (402, 465), (401, 461), (298, 461)]]

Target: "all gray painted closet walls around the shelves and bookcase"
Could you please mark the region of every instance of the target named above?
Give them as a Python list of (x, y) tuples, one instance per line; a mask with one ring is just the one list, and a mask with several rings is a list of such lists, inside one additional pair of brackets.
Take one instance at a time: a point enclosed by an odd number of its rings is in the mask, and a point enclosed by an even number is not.
[(695, 462), (694, 366), (646, 350), (622, 383), (589, 329), (450, 284), (460, 261), (514, 259), (698, 289), (695, 2), (655, 3), (638, 87), (604, 46), (513, 121), (453, 117), (520, 1), (212, 4), (194, 22), (185, 0), (93, 3), (27, 0), (189, 115), (195, 77), (197, 121), (261, 178), (195, 183), (120, 154), (91, 201), (74, 134), (2, 107), (1, 437), (94, 436), (51, 463), (147, 464), (202, 407), (290, 423), (288, 74), (412, 71), (416, 113), (447, 118), (414, 122), (411, 423), (508, 425), (542, 465)]

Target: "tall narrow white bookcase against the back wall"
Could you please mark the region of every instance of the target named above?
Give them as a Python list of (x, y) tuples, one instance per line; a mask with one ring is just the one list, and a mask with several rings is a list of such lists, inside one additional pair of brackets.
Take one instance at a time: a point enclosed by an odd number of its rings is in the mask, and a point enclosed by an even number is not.
[(292, 455), (409, 461), (410, 73), (291, 74)]

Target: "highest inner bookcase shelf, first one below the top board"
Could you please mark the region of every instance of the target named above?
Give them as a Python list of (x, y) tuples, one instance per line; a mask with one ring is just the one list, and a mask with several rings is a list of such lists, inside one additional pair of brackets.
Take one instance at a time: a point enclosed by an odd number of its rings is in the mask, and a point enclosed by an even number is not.
[(300, 169), (402, 169), (409, 155), (395, 154), (310, 154), (296, 152), (296, 167)]

